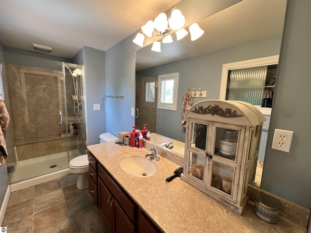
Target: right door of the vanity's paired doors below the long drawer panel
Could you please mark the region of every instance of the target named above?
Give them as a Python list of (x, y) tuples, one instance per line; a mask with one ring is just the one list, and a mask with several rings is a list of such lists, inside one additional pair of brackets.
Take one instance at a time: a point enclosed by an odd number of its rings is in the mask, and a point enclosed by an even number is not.
[(126, 216), (117, 201), (113, 200), (112, 209), (114, 212), (114, 233), (135, 233), (135, 228), (129, 218)]

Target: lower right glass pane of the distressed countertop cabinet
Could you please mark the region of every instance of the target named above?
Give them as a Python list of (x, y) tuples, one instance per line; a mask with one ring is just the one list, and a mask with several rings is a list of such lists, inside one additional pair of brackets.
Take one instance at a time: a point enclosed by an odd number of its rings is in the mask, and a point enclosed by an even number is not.
[(234, 168), (213, 161), (211, 186), (231, 195)]

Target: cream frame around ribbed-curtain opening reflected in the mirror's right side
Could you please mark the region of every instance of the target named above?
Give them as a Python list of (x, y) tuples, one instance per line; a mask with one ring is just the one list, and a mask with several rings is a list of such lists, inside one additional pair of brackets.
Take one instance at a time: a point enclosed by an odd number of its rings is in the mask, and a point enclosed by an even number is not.
[[(251, 59), (251, 60), (246, 60), (246, 61), (224, 64), (223, 71), (222, 71), (222, 80), (221, 80), (221, 86), (220, 86), (219, 100), (225, 100), (229, 70), (275, 65), (275, 64), (278, 64), (278, 58), (279, 58), (279, 55), (275, 55), (275, 56), (262, 57), (262, 58), (256, 58), (256, 59)], [(259, 109), (259, 111), (263, 115), (271, 115), (272, 108), (263, 108), (261, 106), (256, 106), (256, 107)]]

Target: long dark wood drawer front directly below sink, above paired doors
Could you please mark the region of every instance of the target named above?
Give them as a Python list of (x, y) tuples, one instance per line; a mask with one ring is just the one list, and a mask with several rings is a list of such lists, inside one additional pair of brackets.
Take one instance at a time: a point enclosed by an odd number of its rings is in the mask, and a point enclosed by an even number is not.
[(108, 187), (112, 195), (119, 202), (122, 209), (129, 217), (129, 219), (134, 222), (135, 220), (135, 204), (133, 201), (124, 193), (124, 191), (115, 183), (113, 178), (108, 174), (104, 167), (98, 164), (98, 176), (104, 181), (105, 185)]

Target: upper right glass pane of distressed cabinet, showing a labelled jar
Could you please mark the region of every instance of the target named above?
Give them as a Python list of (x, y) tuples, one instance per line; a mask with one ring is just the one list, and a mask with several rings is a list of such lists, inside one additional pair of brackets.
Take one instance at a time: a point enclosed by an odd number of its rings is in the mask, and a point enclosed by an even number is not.
[(217, 127), (215, 155), (235, 160), (237, 154), (239, 131)]

